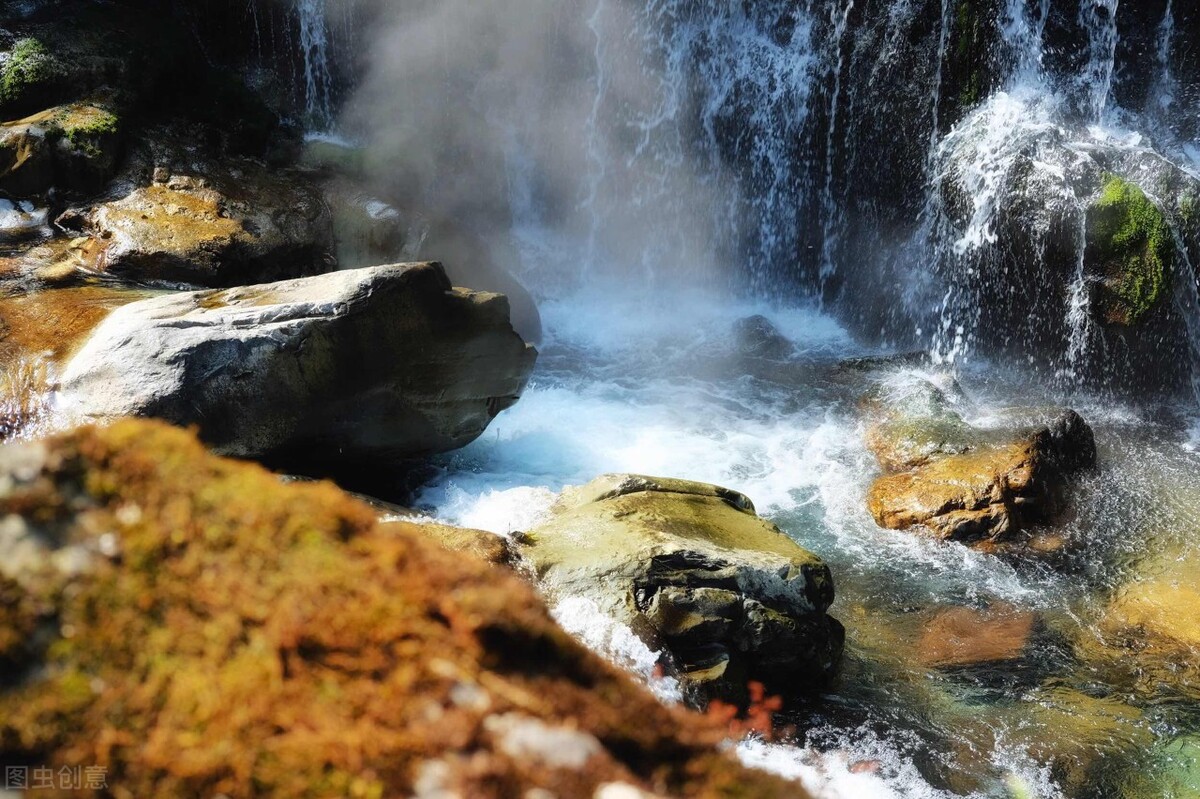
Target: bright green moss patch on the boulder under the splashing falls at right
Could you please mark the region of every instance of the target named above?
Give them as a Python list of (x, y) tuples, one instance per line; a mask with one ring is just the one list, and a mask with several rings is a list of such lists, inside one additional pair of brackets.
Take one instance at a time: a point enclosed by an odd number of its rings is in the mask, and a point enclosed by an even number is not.
[(1100, 311), (1135, 325), (1158, 304), (1175, 259), (1163, 211), (1136, 185), (1110, 175), (1088, 211), (1088, 260), (1104, 277)]

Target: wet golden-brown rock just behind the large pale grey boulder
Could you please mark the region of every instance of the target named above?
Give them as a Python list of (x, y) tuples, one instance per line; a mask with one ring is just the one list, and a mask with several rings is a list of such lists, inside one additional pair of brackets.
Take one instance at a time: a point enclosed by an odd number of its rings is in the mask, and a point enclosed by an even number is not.
[(316, 186), (252, 161), (175, 174), (60, 223), (90, 238), (95, 271), (209, 287), (326, 271), (332, 238)]

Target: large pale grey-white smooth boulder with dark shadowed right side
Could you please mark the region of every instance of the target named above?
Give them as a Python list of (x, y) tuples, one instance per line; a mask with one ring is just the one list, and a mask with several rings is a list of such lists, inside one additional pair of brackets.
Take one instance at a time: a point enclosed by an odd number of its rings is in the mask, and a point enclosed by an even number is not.
[(504, 296), (398, 264), (126, 305), (66, 364), (70, 420), (198, 425), (224, 453), (362, 467), (475, 439), (536, 352)]

